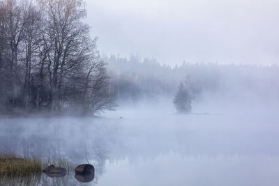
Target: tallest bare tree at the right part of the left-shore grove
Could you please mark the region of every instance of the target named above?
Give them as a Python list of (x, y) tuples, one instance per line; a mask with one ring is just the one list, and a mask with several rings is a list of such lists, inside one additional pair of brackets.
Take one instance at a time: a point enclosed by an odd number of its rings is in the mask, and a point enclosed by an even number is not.
[(80, 68), (79, 61), (82, 40), (89, 32), (81, 22), (85, 16), (82, 0), (40, 0), (44, 11), (46, 35), (52, 42), (47, 54), (50, 79), (50, 103), (53, 110), (60, 110), (61, 90), (67, 71)]

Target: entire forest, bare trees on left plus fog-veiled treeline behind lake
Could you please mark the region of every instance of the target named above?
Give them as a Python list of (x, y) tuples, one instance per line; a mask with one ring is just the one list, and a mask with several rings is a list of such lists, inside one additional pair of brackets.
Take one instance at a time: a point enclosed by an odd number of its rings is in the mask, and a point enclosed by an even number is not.
[[(117, 105), (173, 99), (276, 100), (278, 65), (183, 62), (100, 55), (82, 0), (0, 1), (1, 113), (100, 114)], [(176, 61), (177, 62), (177, 61)]]

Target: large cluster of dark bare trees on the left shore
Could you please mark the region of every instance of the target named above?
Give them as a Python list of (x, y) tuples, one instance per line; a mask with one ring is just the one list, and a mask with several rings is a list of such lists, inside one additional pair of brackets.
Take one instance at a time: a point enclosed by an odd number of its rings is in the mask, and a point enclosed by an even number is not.
[(113, 109), (83, 0), (0, 0), (0, 110)]

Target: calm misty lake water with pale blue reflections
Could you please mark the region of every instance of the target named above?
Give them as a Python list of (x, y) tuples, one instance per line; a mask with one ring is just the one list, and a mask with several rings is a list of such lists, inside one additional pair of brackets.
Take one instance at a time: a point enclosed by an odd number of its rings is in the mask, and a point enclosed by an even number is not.
[(1, 118), (0, 150), (89, 161), (96, 171), (88, 185), (278, 183), (278, 110), (181, 115), (171, 104), (127, 105), (101, 118)]

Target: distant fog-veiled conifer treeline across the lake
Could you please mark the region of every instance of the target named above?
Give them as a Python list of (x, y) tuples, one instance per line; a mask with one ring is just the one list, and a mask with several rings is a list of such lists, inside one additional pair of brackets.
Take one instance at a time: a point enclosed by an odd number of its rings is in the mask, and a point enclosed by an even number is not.
[(204, 96), (225, 99), (279, 100), (279, 66), (218, 65), (182, 63), (174, 68), (160, 65), (155, 59), (130, 59), (104, 56), (114, 98), (119, 101), (142, 98), (174, 98), (179, 84), (186, 83), (195, 100)]

